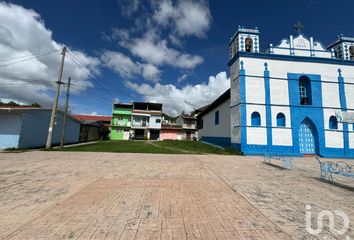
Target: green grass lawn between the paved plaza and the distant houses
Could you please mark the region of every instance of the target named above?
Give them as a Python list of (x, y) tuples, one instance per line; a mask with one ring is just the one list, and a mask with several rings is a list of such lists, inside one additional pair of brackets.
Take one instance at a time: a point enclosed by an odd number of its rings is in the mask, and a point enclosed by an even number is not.
[(121, 152), (121, 153), (165, 153), (165, 154), (225, 154), (236, 155), (239, 152), (221, 149), (197, 141), (100, 141), (98, 143), (52, 149), (56, 151), (80, 152)]

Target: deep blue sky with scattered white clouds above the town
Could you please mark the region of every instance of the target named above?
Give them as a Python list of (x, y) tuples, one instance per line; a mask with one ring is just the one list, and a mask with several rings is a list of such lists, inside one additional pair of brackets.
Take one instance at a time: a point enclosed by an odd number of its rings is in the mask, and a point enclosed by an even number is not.
[[(228, 43), (239, 25), (260, 30), (261, 51), (303, 33), (324, 45), (354, 37), (354, 2), (338, 0), (0, 1), (0, 98), (51, 107), (61, 49), (70, 111), (111, 115), (112, 103), (163, 111), (211, 103), (230, 87)], [(62, 86), (59, 106), (65, 103)]]

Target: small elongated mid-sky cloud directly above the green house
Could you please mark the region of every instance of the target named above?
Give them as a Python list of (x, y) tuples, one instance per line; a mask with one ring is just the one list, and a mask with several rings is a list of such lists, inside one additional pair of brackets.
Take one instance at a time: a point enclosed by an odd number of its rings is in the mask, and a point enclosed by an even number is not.
[(144, 79), (157, 82), (160, 79), (161, 71), (152, 64), (141, 64), (120, 53), (104, 51), (101, 56), (103, 65), (112, 69), (124, 78), (135, 78), (143, 76)]

